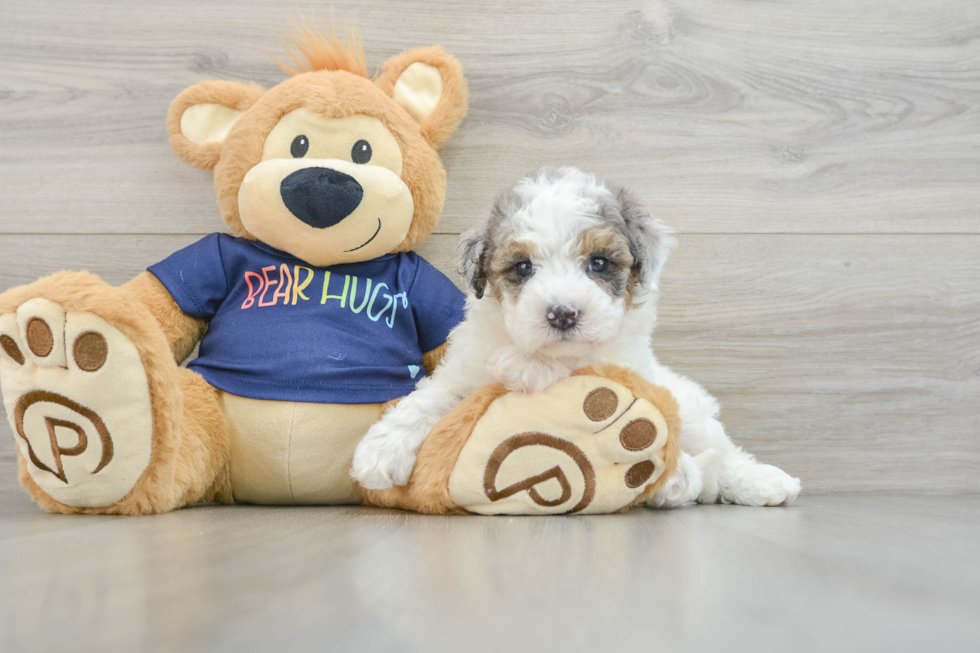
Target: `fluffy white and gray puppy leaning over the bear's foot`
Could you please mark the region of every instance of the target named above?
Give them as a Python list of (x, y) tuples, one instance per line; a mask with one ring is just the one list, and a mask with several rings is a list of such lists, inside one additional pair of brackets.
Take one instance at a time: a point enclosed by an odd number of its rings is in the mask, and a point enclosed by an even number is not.
[(521, 180), (463, 234), (466, 320), (432, 376), (358, 445), (354, 478), (371, 489), (407, 483), (429, 431), (482, 385), (540, 392), (580, 367), (613, 363), (666, 387), (680, 405), (681, 463), (652, 505), (795, 499), (799, 479), (735, 445), (715, 398), (654, 357), (660, 271), (675, 243), (632, 193), (594, 175), (544, 168)]

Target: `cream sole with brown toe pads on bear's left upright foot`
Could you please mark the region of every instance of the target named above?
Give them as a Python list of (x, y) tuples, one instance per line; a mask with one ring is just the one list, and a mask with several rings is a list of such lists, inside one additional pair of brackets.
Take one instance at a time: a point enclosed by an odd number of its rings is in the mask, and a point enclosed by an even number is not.
[(0, 391), (28, 473), (56, 501), (108, 506), (150, 462), (139, 351), (96, 315), (37, 298), (0, 316)]

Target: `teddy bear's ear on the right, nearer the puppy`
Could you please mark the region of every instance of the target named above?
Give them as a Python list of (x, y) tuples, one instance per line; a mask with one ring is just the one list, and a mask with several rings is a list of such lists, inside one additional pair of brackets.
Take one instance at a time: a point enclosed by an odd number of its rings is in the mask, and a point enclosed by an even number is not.
[(419, 48), (392, 57), (377, 79), (435, 149), (446, 142), (466, 115), (463, 66), (440, 47)]

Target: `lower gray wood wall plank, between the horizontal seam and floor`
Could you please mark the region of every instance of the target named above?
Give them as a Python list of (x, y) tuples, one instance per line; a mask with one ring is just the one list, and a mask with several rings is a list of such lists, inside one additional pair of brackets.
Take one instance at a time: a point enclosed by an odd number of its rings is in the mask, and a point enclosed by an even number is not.
[[(0, 287), (63, 268), (122, 283), (196, 238), (7, 236)], [(454, 245), (420, 252), (455, 279)], [(682, 235), (655, 349), (809, 492), (977, 491), (978, 252), (980, 236)]]

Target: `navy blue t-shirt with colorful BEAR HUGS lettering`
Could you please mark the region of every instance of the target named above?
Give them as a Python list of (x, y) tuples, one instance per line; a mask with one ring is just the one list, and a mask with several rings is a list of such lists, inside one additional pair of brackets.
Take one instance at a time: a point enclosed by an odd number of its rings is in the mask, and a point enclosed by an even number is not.
[(463, 293), (415, 253), (319, 268), (211, 234), (149, 270), (182, 311), (210, 323), (188, 367), (253, 399), (403, 397), (425, 376), (422, 353), (463, 320)]

